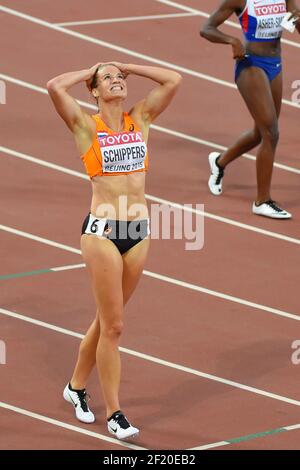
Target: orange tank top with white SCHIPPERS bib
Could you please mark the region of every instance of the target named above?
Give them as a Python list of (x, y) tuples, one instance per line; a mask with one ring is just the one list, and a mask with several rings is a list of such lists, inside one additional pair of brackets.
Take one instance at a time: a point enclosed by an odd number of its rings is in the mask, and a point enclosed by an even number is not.
[(123, 132), (111, 130), (97, 114), (92, 118), (96, 122), (96, 135), (89, 150), (81, 157), (90, 178), (148, 170), (147, 145), (128, 113), (124, 113)]

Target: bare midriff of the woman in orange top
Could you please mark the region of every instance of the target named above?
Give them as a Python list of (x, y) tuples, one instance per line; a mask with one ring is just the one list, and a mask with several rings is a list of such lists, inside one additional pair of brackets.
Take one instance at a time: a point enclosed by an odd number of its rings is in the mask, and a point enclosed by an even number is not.
[(147, 219), (145, 172), (92, 178), (91, 213), (117, 220)]

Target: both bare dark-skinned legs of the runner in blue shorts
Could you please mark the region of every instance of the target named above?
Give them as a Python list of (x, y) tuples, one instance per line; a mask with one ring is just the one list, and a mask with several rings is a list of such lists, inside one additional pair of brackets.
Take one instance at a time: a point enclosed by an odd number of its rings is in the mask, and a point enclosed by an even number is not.
[(254, 119), (254, 129), (245, 132), (218, 160), (225, 168), (230, 162), (260, 144), (256, 158), (257, 199), (260, 204), (271, 199), (270, 187), (276, 146), (278, 118), (282, 102), (282, 73), (270, 83), (258, 67), (244, 69), (237, 81), (238, 89)]

